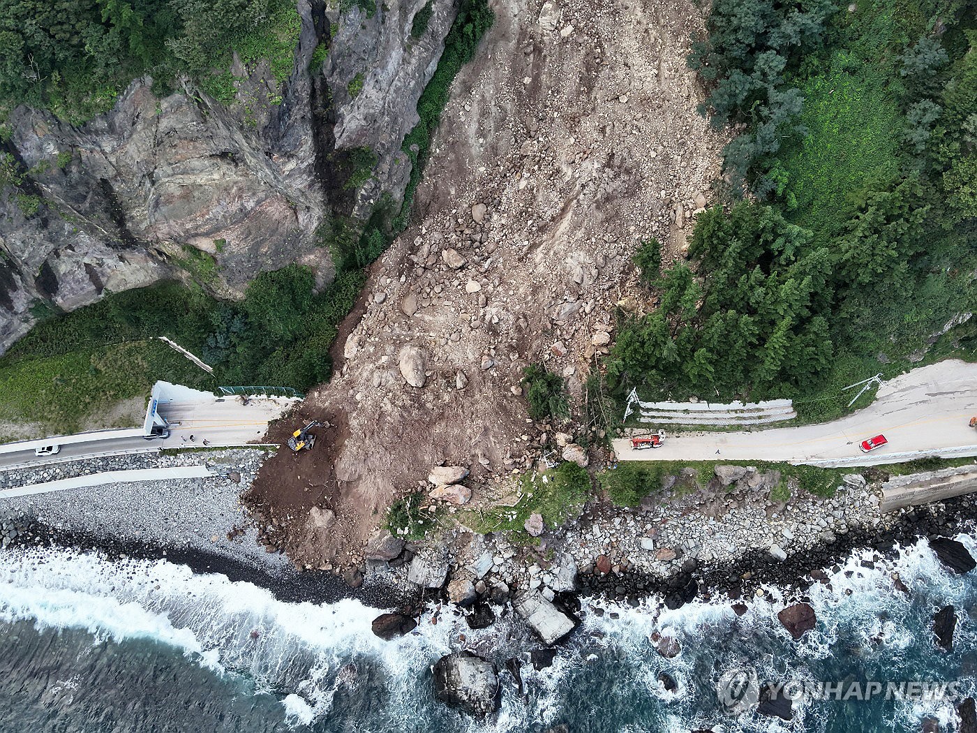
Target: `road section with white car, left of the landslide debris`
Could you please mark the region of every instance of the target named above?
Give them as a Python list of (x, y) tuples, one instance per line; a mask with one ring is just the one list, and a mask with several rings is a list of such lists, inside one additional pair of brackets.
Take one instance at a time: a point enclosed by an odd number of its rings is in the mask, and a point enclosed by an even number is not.
[[(291, 401), (274, 398), (252, 399), (247, 405), (228, 398), (225, 402), (169, 403), (160, 405), (160, 413), (170, 423), (170, 437), (146, 440), (143, 437), (115, 437), (131, 431), (104, 431), (102, 433), (71, 436), (72, 440), (85, 437), (84, 442), (61, 444), (57, 437), (44, 441), (25, 441), (23, 450), (15, 445), (2, 446), (0, 468), (19, 465), (62, 462), (92, 457), (103, 453), (135, 453), (147, 449), (191, 448), (203, 446), (203, 441), (213, 447), (240, 446), (256, 443), (268, 430), (268, 423), (276, 419), (292, 405)], [(190, 438), (193, 437), (191, 442)], [(38, 443), (57, 443), (59, 453), (37, 456), (34, 448)]]

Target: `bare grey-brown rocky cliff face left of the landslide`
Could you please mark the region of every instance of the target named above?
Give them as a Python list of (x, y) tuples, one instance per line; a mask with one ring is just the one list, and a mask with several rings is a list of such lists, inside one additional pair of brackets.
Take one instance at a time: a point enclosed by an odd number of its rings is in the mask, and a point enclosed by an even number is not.
[[(330, 280), (319, 225), (331, 214), (368, 215), (385, 192), (403, 196), (409, 162), (400, 147), (454, 15), (439, 0), (413, 38), (423, 5), (340, 17), (299, 0), (291, 75), (278, 85), (267, 65), (235, 63), (228, 107), (190, 81), (158, 98), (144, 78), (81, 126), (17, 108), (4, 147), (21, 184), (0, 192), (0, 353), (45, 306), (70, 311), (106, 290), (187, 277), (196, 250), (216, 261), (205, 284), (225, 295), (292, 262)], [(320, 43), (329, 54), (312, 67)], [(361, 191), (345, 186), (343, 154), (354, 148), (378, 159)]]

